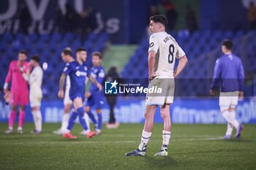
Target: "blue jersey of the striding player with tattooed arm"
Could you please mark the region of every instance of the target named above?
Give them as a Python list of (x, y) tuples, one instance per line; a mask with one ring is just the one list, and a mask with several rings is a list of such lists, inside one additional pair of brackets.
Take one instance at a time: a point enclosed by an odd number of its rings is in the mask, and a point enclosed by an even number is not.
[(69, 98), (72, 100), (77, 97), (84, 98), (86, 77), (88, 75), (85, 63), (80, 64), (78, 61), (67, 63), (63, 72), (70, 77)]

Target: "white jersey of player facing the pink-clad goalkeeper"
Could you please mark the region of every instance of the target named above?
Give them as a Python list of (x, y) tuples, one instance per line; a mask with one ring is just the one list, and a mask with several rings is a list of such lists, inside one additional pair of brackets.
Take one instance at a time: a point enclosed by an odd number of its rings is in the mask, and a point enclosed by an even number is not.
[(31, 92), (41, 92), (42, 93), (42, 69), (40, 66), (36, 66), (31, 74), (29, 75), (29, 85)]

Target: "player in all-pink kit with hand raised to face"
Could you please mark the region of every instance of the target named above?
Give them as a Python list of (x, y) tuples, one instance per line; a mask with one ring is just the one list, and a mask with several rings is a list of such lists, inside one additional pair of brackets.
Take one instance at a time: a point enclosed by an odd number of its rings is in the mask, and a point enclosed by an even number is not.
[[(29, 104), (29, 88), (26, 80), (24, 80), (22, 74), (27, 72), (29, 63), (26, 61), (26, 51), (20, 51), (18, 54), (18, 61), (12, 61), (9, 66), (9, 71), (4, 83), (4, 93), (7, 103), (11, 104), (11, 112), (9, 117), (9, 128), (5, 131), (5, 134), (11, 134), (13, 132), (13, 125), (15, 123), (15, 116), (18, 104), (20, 105), (20, 113), (18, 118), (18, 134), (22, 134), (22, 127), (25, 120), (25, 107)], [(8, 90), (8, 85), (12, 80), (11, 92)]]

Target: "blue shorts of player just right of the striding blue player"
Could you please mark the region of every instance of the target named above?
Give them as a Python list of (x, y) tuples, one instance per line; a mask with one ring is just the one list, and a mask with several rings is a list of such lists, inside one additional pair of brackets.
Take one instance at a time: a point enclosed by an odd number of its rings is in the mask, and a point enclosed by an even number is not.
[(95, 106), (96, 109), (102, 109), (104, 102), (104, 96), (102, 93), (91, 93), (91, 96), (87, 99), (86, 107)]

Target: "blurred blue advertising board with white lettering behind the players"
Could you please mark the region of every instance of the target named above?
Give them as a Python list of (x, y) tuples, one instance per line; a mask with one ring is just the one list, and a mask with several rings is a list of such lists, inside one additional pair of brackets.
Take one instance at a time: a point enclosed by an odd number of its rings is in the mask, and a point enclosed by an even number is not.
[[(63, 102), (43, 101), (42, 120), (44, 123), (60, 123), (63, 114)], [(143, 123), (145, 102), (143, 98), (119, 98), (116, 105), (116, 119), (120, 123)], [(256, 124), (256, 98), (244, 98), (239, 101), (236, 108), (236, 116), (241, 123)], [(0, 101), (0, 123), (7, 123), (10, 113), (10, 106)], [(220, 115), (218, 98), (176, 98), (170, 109), (173, 123), (225, 123)], [(109, 111), (105, 104), (102, 110), (103, 122), (108, 122)], [(162, 123), (159, 109), (154, 119), (155, 123)], [(33, 122), (31, 109), (26, 108), (26, 122)]]

